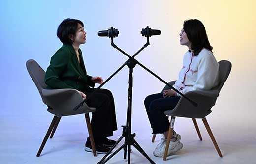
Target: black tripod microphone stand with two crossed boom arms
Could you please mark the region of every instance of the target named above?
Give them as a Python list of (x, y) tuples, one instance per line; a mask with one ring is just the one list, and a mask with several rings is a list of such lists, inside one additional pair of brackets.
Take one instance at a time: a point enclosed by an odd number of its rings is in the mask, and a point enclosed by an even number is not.
[[(153, 76), (158, 78), (161, 82), (165, 83), (167, 86), (178, 92), (181, 96), (183, 96), (185, 99), (187, 99), (190, 103), (192, 103), (193, 106), (197, 106), (195, 102), (190, 100), (188, 97), (186, 97), (184, 94), (179, 92), (177, 89), (172, 87), (170, 84), (162, 80), (159, 76), (157, 76), (155, 73), (150, 71), (148, 68), (146, 68), (144, 65), (142, 65), (140, 62), (138, 62), (134, 57), (138, 55), (144, 48), (146, 48), (149, 43), (149, 36), (147, 37), (147, 43), (139, 50), (137, 51), (133, 56), (128, 55), (123, 50), (118, 48), (115, 43), (113, 42), (113, 37), (111, 37), (111, 46), (116, 48), (118, 51), (123, 53), (124, 55), (128, 56), (128, 60), (116, 71), (114, 72), (105, 82), (103, 82), (94, 92), (96, 92), (99, 88), (101, 88), (106, 82), (108, 82), (113, 76), (115, 76), (125, 65), (129, 67), (129, 87), (128, 87), (128, 107), (127, 107), (127, 122), (126, 125), (123, 127), (122, 136), (117, 140), (116, 144), (110, 149), (110, 151), (97, 163), (97, 164), (105, 164), (108, 160), (110, 160), (114, 155), (116, 155), (121, 149), (124, 149), (124, 159), (127, 157), (127, 146), (128, 146), (128, 164), (130, 164), (130, 153), (131, 153), (131, 146), (134, 146), (145, 158), (147, 158), (151, 164), (156, 164), (152, 159), (149, 158), (149, 156), (146, 154), (146, 152), (140, 147), (138, 142), (134, 139), (135, 133), (131, 134), (131, 105), (132, 105), (132, 86), (133, 86), (133, 68), (136, 64), (140, 65), (142, 68), (144, 68), (146, 71), (151, 73)], [(93, 92), (93, 93), (94, 93)], [(92, 93), (92, 94), (93, 94)], [(91, 94), (91, 95), (92, 95)], [(83, 100), (81, 103), (79, 103), (73, 110), (79, 109), (79, 107), (83, 106), (83, 103), (85, 103), (90, 97), (88, 96), (87, 99)], [(109, 157), (108, 155), (112, 152), (112, 150), (118, 145), (118, 143), (125, 137), (125, 143), (119, 147), (115, 152), (113, 152)]]

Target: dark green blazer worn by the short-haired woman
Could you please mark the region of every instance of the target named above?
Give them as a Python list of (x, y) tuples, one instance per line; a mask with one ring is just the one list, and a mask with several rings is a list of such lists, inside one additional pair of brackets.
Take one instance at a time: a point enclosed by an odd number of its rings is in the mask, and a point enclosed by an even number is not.
[(84, 91), (94, 87), (92, 76), (86, 74), (82, 51), (79, 49), (80, 64), (72, 45), (64, 44), (52, 57), (44, 82), (48, 89), (72, 88)]

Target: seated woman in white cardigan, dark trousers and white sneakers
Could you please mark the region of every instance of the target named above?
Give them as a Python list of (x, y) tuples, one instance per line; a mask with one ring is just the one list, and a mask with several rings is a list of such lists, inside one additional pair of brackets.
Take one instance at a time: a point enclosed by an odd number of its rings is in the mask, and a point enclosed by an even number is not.
[[(173, 87), (185, 94), (192, 90), (210, 90), (218, 85), (219, 63), (212, 53), (213, 48), (202, 22), (197, 19), (185, 20), (180, 33), (180, 44), (187, 46), (189, 50), (183, 57), (183, 66)], [(164, 155), (170, 125), (164, 111), (174, 109), (180, 97), (173, 89), (168, 89), (163, 93), (149, 95), (144, 101), (153, 134), (163, 134), (153, 152), (157, 157)], [(175, 131), (172, 133), (168, 156), (183, 147), (181, 136)]]

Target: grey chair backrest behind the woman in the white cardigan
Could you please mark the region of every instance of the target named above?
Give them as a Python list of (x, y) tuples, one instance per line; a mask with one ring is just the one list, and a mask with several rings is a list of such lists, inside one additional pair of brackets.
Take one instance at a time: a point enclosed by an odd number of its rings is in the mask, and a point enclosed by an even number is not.
[(227, 60), (219, 61), (219, 85), (217, 85), (211, 90), (219, 90), (219, 92), (221, 91), (224, 83), (227, 80), (227, 77), (230, 74), (231, 67), (232, 67), (232, 64), (230, 61), (227, 61)]

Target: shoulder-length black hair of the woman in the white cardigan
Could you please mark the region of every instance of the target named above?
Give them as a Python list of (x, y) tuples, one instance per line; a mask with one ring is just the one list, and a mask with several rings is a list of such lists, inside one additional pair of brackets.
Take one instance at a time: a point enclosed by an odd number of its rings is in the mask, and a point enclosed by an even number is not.
[(192, 43), (191, 49), (197, 56), (203, 48), (212, 52), (213, 47), (210, 45), (203, 23), (197, 19), (185, 20), (183, 29)]

